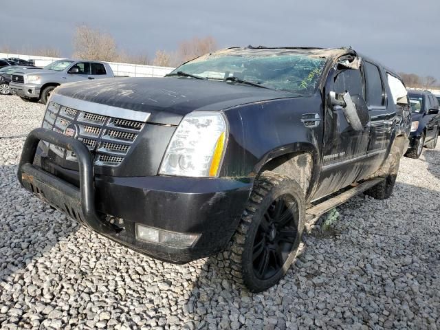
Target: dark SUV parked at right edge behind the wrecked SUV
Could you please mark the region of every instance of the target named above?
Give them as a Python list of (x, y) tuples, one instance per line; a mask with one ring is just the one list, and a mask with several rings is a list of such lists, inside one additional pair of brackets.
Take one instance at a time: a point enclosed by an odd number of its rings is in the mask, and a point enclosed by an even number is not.
[(439, 100), (430, 91), (408, 90), (411, 103), (410, 146), (406, 157), (419, 158), (426, 148), (435, 148), (439, 137)]

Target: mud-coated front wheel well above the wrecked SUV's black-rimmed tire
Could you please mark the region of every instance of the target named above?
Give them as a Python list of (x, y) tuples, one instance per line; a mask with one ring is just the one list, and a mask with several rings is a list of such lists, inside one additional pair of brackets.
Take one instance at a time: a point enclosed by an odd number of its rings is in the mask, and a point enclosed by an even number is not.
[(310, 153), (288, 153), (270, 159), (261, 168), (259, 174), (265, 170), (270, 170), (279, 175), (285, 175), (290, 179), (296, 180), (303, 189), (304, 194), (307, 195), (313, 164), (313, 157)]

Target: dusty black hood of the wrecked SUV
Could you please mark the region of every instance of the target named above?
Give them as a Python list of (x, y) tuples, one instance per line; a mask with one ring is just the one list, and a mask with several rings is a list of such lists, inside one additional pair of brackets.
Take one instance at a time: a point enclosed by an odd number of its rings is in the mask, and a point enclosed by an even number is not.
[(292, 98), (296, 94), (193, 78), (107, 78), (61, 85), (61, 94), (78, 100), (151, 113), (148, 121), (178, 124), (195, 110), (221, 111), (241, 104)]

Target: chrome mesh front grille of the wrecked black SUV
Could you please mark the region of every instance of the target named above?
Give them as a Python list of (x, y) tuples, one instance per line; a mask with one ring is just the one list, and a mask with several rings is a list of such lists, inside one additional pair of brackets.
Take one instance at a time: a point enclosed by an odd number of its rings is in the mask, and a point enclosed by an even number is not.
[[(144, 122), (113, 118), (72, 109), (50, 102), (42, 126), (64, 134), (67, 127), (76, 128), (76, 138), (89, 148), (98, 166), (118, 166), (129, 153)], [(77, 162), (76, 155), (64, 148), (50, 145), (56, 155)]]

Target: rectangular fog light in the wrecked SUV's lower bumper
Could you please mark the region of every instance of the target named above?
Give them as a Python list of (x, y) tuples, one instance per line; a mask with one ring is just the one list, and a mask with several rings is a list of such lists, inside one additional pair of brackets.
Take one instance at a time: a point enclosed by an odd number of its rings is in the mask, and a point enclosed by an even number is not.
[(168, 245), (175, 248), (189, 248), (199, 238), (199, 234), (183, 234), (168, 232), (157, 228), (147, 227), (136, 223), (136, 239), (148, 243)]

